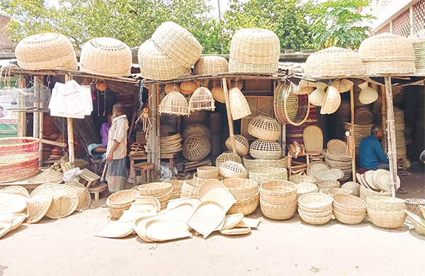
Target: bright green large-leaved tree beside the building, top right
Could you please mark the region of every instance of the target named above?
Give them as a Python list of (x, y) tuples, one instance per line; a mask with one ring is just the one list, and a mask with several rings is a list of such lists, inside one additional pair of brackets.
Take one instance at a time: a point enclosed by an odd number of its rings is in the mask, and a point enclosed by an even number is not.
[(337, 46), (358, 48), (367, 37), (373, 16), (363, 16), (358, 8), (368, 6), (364, 0), (329, 0), (312, 9), (311, 38), (319, 49)]

